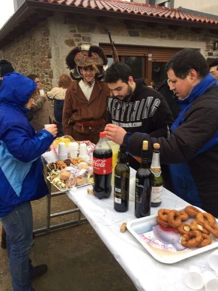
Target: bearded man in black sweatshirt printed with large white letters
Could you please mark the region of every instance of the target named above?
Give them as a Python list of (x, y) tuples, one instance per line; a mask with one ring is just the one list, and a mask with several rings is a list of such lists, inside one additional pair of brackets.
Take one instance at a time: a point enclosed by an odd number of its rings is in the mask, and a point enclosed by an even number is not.
[[(113, 93), (108, 100), (108, 126), (120, 126), (125, 132), (167, 137), (167, 128), (171, 127), (173, 118), (161, 94), (146, 86), (142, 79), (134, 81), (131, 68), (121, 62), (115, 62), (107, 69), (105, 81)], [(135, 169), (140, 166), (131, 156), (129, 162)]]

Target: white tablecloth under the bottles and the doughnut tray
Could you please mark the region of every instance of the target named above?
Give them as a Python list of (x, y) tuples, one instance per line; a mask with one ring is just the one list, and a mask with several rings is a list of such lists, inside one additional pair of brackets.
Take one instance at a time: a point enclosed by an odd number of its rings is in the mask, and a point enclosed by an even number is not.
[[(191, 289), (184, 283), (184, 275), (189, 266), (198, 266), (202, 272), (212, 271), (207, 263), (207, 257), (214, 250), (174, 264), (164, 264), (154, 259), (128, 230), (125, 233), (120, 232), (120, 226), (124, 221), (136, 219), (134, 202), (129, 201), (127, 212), (119, 213), (113, 209), (112, 194), (108, 199), (99, 200), (87, 193), (89, 187), (84, 186), (77, 191), (70, 190), (67, 195), (88, 219), (138, 290), (189, 291)], [(163, 202), (159, 208), (179, 209), (186, 205), (184, 200), (164, 189)], [(152, 208), (151, 214), (156, 214), (159, 208)]]

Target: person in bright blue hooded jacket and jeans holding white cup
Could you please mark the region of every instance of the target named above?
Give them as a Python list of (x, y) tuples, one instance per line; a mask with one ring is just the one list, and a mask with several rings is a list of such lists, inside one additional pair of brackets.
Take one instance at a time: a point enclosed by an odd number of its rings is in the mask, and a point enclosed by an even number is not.
[(37, 134), (26, 117), (37, 84), (17, 73), (4, 76), (0, 86), (0, 221), (6, 231), (14, 291), (33, 291), (31, 279), (47, 265), (33, 267), (31, 200), (48, 194), (40, 156), (57, 134), (56, 125)]

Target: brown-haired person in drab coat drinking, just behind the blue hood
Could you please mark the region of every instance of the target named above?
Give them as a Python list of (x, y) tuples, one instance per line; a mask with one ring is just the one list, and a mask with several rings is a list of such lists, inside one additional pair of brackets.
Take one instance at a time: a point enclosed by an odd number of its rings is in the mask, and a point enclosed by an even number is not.
[(31, 125), (35, 129), (36, 132), (44, 129), (45, 124), (50, 123), (49, 119), (49, 104), (47, 101), (47, 95), (39, 94), (39, 90), (41, 89), (41, 81), (38, 75), (30, 74), (27, 76), (32, 81), (36, 82), (37, 87), (34, 94), (34, 104), (31, 107), (31, 112), (33, 113), (33, 118), (31, 120)]

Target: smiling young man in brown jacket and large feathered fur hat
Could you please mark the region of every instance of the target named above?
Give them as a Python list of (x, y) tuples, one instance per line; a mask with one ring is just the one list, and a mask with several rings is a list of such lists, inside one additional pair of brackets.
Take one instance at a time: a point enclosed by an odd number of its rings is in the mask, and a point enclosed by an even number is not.
[(102, 49), (91, 46), (89, 50), (73, 49), (66, 57), (72, 70), (73, 85), (66, 91), (63, 106), (63, 132), (75, 140), (90, 140), (96, 144), (99, 132), (105, 128), (108, 85), (101, 81), (107, 57)]

